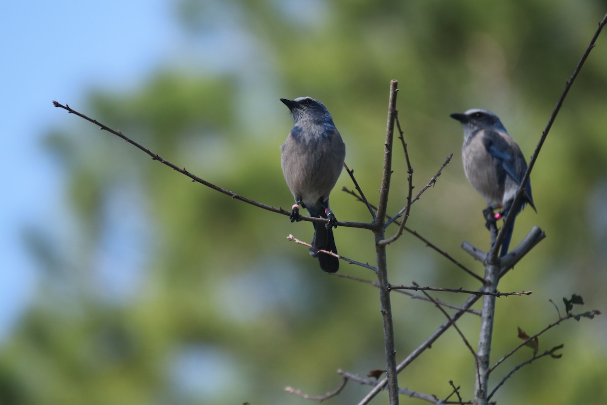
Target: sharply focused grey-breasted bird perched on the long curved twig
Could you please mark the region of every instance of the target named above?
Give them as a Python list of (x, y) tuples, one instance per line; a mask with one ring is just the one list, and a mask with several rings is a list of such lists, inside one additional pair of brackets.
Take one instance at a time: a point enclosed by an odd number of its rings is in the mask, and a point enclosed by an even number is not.
[(313, 222), (310, 254), (317, 257), (322, 270), (335, 273), (339, 270), (339, 259), (318, 250), (337, 254), (332, 229), (337, 227), (337, 219), (329, 208), (329, 194), (344, 167), (345, 145), (333, 117), (322, 103), (310, 97), (281, 98), (280, 101), (289, 107), (295, 121), (280, 147), (282, 172), (295, 199), (291, 222), (299, 221), (299, 205), (307, 208), (311, 217), (329, 220)]

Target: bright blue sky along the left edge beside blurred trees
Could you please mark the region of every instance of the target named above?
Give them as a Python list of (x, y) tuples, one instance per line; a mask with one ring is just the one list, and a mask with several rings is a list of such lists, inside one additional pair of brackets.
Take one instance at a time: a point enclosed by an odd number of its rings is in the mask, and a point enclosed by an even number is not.
[(37, 272), (24, 225), (61, 228), (63, 184), (42, 147), (48, 129), (69, 117), (90, 87), (128, 88), (167, 59), (180, 35), (170, 1), (4, 2), (0, 88), (4, 152), (0, 199), (0, 340), (35, 296)]

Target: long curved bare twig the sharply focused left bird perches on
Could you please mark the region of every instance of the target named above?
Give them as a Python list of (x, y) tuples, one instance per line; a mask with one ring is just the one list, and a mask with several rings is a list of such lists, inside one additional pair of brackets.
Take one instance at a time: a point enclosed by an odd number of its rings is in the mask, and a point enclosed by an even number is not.
[[(81, 118), (84, 118), (87, 121), (90, 121), (91, 123), (99, 126), (100, 129), (103, 129), (103, 131), (110, 132), (110, 134), (114, 134), (117, 137), (122, 138), (123, 140), (127, 141), (131, 145), (135, 146), (136, 148), (140, 149), (141, 151), (143, 151), (146, 154), (148, 154), (149, 156), (151, 156), (153, 160), (157, 160), (158, 162), (162, 163), (163, 165), (169, 166), (169, 168), (171, 168), (171, 169), (173, 169), (173, 170), (175, 170), (177, 172), (180, 172), (183, 175), (186, 175), (187, 177), (189, 177), (190, 179), (192, 179), (192, 181), (194, 181), (194, 182), (197, 182), (197, 183), (200, 183), (202, 185), (205, 185), (205, 186), (207, 186), (209, 188), (214, 189), (215, 191), (221, 192), (222, 194), (226, 194), (226, 196), (232, 197), (232, 199), (240, 200), (240, 201), (248, 203), (250, 205), (254, 205), (254, 206), (257, 206), (259, 208), (266, 209), (267, 211), (272, 211), (273, 213), (283, 214), (283, 215), (286, 215), (286, 216), (290, 216), (291, 215), (291, 211), (286, 211), (285, 209), (282, 209), (282, 208), (276, 208), (276, 207), (271, 206), (271, 205), (262, 204), (260, 202), (255, 201), (255, 200), (251, 200), (251, 199), (248, 199), (246, 197), (240, 196), (236, 192), (229, 191), (228, 189), (222, 188), (222, 187), (214, 185), (213, 183), (210, 183), (210, 182), (208, 182), (206, 180), (203, 180), (200, 177), (197, 177), (196, 175), (194, 175), (191, 172), (187, 171), (185, 168), (180, 168), (177, 165), (174, 165), (173, 163), (169, 162), (168, 160), (165, 160), (164, 158), (160, 157), (160, 155), (158, 155), (158, 154), (150, 151), (148, 148), (145, 148), (144, 146), (142, 146), (139, 143), (135, 142), (131, 138), (127, 137), (122, 132), (115, 131), (114, 129), (109, 128), (109, 126), (107, 126), (105, 124), (102, 124), (102, 123), (100, 123), (97, 120), (93, 120), (93, 118), (89, 118), (86, 115), (81, 114), (78, 111), (75, 111), (74, 109), (72, 109), (67, 104), (64, 106), (62, 104), (59, 104), (57, 101), (53, 100), (53, 105), (55, 107), (63, 108), (64, 110), (66, 110), (70, 114), (78, 115), (78, 117), (81, 117)], [(307, 217), (307, 216), (300, 216), (299, 218), (300, 218), (300, 220), (304, 220), (304, 221), (308, 221), (308, 222), (320, 222), (320, 223), (327, 223), (328, 222), (328, 219), (325, 219), (325, 218)], [(341, 222), (341, 221), (338, 221), (337, 225), (339, 225), (339, 226), (346, 226), (346, 227), (350, 227), (350, 228), (366, 228), (366, 229), (371, 229), (371, 227), (372, 227), (371, 223), (361, 223), (361, 222)]]

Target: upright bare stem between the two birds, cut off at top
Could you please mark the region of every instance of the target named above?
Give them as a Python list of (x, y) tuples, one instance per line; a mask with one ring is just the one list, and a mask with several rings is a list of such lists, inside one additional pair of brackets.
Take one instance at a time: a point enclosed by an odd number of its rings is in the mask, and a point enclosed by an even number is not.
[(394, 140), (394, 121), (396, 117), (396, 92), (398, 81), (390, 81), (390, 101), (388, 104), (388, 123), (384, 145), (384, 175), (379, 191), (377, 219), (375, 221), (375, 249), (377, 256), (377, 274), (379, 282), (379, 301), (384, 319), (384, 347), (386, 374), (388, 377), (388, 395), (390, 405), (398, 405), (398, 373), (396, 372), (396, 344), (394, 341), (394, 325), (392, 322), (392, 305), (390, 304), (390, 283), (388, 282), (388, 266), (385, 254), (385, 244), (379, 243), (384, 239), (385, 213), (392, 177), (392, 145)]

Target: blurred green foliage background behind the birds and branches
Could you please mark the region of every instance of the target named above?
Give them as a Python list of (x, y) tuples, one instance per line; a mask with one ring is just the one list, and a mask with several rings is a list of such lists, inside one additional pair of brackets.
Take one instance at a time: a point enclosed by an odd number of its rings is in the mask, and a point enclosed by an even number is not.
[[(120, 129), (171, 162), (243, 196), (288, 208), (279, 146), (291, 128), (279, 97), (321, 100), (347, 145), (346, 162), (371, 202), (381, 180), (389, 81), (399, 80), (399, 118), (416, 189), (454, 157), (412, 209), (409, 225), (478, 273), (463, 240), (488, 248), (484, 200), (461, 169), (452, 112), (484, 107), (502, 118), (529, 157), (605, 2), (195, 1), (174, 3), (189, 39), (188, 69), (167, 63), (132, 89), (90, 90), (76, 110)], [(535, 215), (517, 220), (516, 245), (532, 225), (548, 238), (500, 285), (532, 290), (498, 301), (492, 361), (556, 318), (548, 302), (573, 293), (605, 309), (607, 284), (607, 33), (599, 38), (532, 174)], [(227, 44), (227, 46), (226, 46)], [(197, 55), (192, 57), (191, 55)], [(63, 114), (63, 112), (58, 112)], [(301, 404), (294, 386), (323, 393), (336, 370), (383, 369), (377, 291), (327, 276), (307, 248), (310, 223), (277, 216), (191, 183), (132, 146), (73, 116), (50, 131), (63, 165), (72, 222), (30, 229), (39, 258), (38, 299), (0, 352), (5, 404)], [(405, 201), (396, 144), (390, 210)], [(368, 213), (340, 188), (340, 220)], [(344, 256), (373, 262), (373, 236), (337, 228)], [(477, 288), (424, 243), (405, 234), (388, 248), (393, 284)], [(342, 265), (341, 273), (373, 279)], [(441, 299), (462, 302), (463, 296)], [(393, 296), (398, 358), (443, 322), (432, 304)], [(475, 345), (478, 319), (459, 327)], [(520, 370), (500, 404), (599, 404), (607, 397), (607, 324), (569, 322), (540, 338), (565, 343), (563, 358)], [(492, 375), (495, 386), (522, 350)], [(399, 376), (402, 387), (444, 397), (448, 381), (472, 396), (473, 359), (454, 330)], [(332, 403), (367, 387), (348, 384)], [(379, 396), (376, 403), (385, 401)]]

